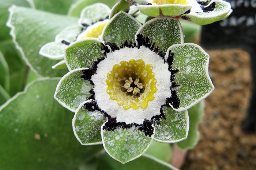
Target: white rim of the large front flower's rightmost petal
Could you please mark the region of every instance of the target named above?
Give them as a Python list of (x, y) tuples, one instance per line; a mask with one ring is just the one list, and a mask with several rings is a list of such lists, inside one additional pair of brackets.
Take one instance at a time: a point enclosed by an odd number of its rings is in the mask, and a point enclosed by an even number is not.
[(184, 46), (184, 45), (195, 46), (195, 47), (197, 47), (204, 55), (208, 56), (208, 57), (207, 57), (207, 62), (206, 62), (206, 64), (205, 64), (204, 69), (205, 69), (205, 73), (206, 73), (206, 78), (209, 80), (209, 82), (210, 82), (210, 84), (211, 84), (211, 86), (212, 86), (212, 89), (211, 89), (207, 94), (205, 94), (203, 97), (201, 97), (200, 99), (198, 99), (198, 100), (196, 100), (195, 102), (191, 103), (191, 104), (190, 104), (189, 106), (187, 106), (187, 107), (179, 107), (179, 108), (176, 109), (176, 108), (174, 108), (171, 104), (169, 104), (169, 105), (173, 108), (173, 110), (176, 110), (176, 111), (188, 110), (188, 109), (191, 108), (192, 106), (195, 106), (195, 105), (196, 105), (197, 103), (199, 103), (201, 100), (207, 98), (207, 97), (211, 94), (211, 92), (214, 90), (214, 88), (215, 88), (214, 85), (212, 84), (211, 78), (210, 78), (210, 76), (209, 76), (209, 71), (208, 71), (210, 56), (209, 56), (209, 54), (207, 54), (207, 53), (203, 50), (203, 48), (200, 47), (199, 45), (194, 44), (194, 43), (174, 44), (174, 45), (172, 45), (172, 46), (170, 46), (170, 47), (168, 48), (168, 50), (167, 50), (167, 52), (166, 52), (166, 55), (165, 55), (165, 60), (166, 60), (167, 57), (168, 57), (168, 52), (169, 52), (173, 47)]

